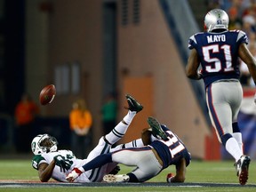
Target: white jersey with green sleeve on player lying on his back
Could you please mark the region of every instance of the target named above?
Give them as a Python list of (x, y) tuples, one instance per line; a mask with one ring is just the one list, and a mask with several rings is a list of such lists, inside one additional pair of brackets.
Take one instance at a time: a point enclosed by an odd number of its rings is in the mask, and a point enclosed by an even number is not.
[[(61, 156), (65, 159), (67, 163), (66, 169), (61, 169), (59, 165), (55, 164), (55, 167), (52, 172), (52, 179), (58, 180), (61, 182), (67, 182), (66, 177), (69, 172), (75, 167), (80, 167), (86, 164), (86, 159), (77, 159), (76, 156), (70, 150), (58, 150), (56, 152), (44, 153), (36, 155), (32, 159), (32, 166), (34, 169), (38, 170), (39, 164), (51, 164), (54, 156)], [(81, 174), (75, 182), (91, 182), (86, 174)]]

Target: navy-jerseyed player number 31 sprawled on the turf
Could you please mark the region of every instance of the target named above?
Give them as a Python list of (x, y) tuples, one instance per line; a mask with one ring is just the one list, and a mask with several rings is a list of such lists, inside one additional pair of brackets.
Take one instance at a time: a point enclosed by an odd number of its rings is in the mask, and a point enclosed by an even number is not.
[(155, 177), (172, 164), (176, 166), (176, 175), (168, 174), (167, 182), (184, 182), (186, 167), (191, 160), (187, 148), (177, 135), (165, 125), (159, 124), (155, 118), (148, 117), (148, 124), (155, 136), (155, 140), (152, 140), (153, 137), (151, 137), (151, 140), (149, 140), (151, 143), (148, 146), (124, 148), (97, 156), (91, 162), (74, 168), (68, 174), (67, 180), (72, 182), (83, 175), (83, 172), (114, 162), (136, 166), (136, 168), (127, 174), (107, 174), (103, 178), (106, 182), (144, 182)]

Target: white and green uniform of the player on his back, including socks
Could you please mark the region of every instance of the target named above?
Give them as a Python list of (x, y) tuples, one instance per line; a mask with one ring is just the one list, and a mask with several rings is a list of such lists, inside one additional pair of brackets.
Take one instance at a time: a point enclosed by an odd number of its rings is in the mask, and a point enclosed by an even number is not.
[[(42, 153), (34, 156), (32, 166), (38, 170), (39, 164), (51, 164), (54, 156), (61, 156), (62, 160), (65, 160), (65, 168), (63, 169), (63, 167), (60, 167), (58, 163), (55, 163), (55, 167), (52, 172), (52, 179), (67, 182), (68, 180), (66, 180), (66, 177), (69, 172), (71, 172), (75, 167), (81, 167), (90, 162), (96, 156), (107, 154), (108, 152), (113, 152), (120, 148), (141, 147), (143, 146), (143, 142), (141, 139), (138, 139), (132, 140), (126, 144), (118, 145), (115, 148), (111, 148), (114, 143), (124, 137), (124, 134), (135, 115), (136, 111), (129, 110), (128, 114), (124, 116), (124, 121), (117, 124), (116, 127), (105, 137), (101, 137), (98, 145), (92, 149), (86, 159), (77, 159), (70, 150), (58, 150), (56, 152)], [(115, 167), (116, 163), (104, 164), (101, 167), (84, 172), (80, 177), (74, 180), (74, 182), (100, 182), (103, 180), (103, 176), (111, 172)]]

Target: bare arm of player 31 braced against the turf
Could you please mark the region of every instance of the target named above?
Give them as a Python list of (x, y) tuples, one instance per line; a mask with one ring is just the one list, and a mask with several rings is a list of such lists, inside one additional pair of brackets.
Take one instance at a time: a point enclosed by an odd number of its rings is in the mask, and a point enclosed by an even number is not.
[(176, 164), (176, 175), (169, 173), (167, 175), (167, 182), (184, 182), (186, 179), (186, 160), (180, 159), (179, 164)]

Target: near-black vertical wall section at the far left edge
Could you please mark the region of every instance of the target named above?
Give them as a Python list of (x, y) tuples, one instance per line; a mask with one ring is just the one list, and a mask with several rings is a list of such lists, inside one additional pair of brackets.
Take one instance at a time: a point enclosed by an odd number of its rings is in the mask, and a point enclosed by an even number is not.
[(25, 0), (3, 0), (0, 9), (0, 111), (12, 116), (22, 93), (26, 92)]

